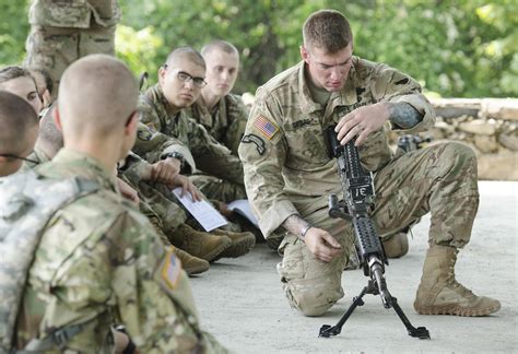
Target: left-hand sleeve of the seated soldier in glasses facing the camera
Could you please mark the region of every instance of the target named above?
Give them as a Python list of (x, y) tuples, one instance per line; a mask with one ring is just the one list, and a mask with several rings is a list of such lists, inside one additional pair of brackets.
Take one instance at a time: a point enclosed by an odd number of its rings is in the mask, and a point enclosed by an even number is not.
[(185, 157), (190, 172), (193, 173), (196, 164), (189, 148), (178, 139), (161, 132), (162, 121), (150, 103), (141, 98), (139, 109), (141, 122), (138, 126), (133, 152), (150, 163), (160, 161), (167, 153), (178, 152)]

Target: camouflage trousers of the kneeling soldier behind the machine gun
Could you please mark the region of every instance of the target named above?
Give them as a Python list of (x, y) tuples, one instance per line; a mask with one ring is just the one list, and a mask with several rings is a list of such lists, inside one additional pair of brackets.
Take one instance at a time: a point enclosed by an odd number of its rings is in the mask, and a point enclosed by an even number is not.
[[(372, 216), (380, 235), (429, 212), (431, 245), (460, 248), (469, 241), (479, 208), (476, 157), (470, 148), (445, 143), (407, 153), (378, 170), (375, 189)], [(320, 316), (343, 296), (341, 280), (353, 247), (353, 227), (330, 219), (327, 209), (302, 216), (328, 231), (343, 248), (329, 263), (317, 259), (291, 233), (279, 248), (283, 259), (278, 271), (290, 304), (306, 316)]]

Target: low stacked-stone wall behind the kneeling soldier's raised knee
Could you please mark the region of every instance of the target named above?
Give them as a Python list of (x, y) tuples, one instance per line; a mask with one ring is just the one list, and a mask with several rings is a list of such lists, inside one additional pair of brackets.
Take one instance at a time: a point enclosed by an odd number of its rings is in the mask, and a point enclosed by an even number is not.
[[(518, 180), (518, 99), (431, 99), (437, 121), (429, 144), (460, 141), (476, 152), (479, 178)], [(397, 135), (391, 134), (396, 142)]]

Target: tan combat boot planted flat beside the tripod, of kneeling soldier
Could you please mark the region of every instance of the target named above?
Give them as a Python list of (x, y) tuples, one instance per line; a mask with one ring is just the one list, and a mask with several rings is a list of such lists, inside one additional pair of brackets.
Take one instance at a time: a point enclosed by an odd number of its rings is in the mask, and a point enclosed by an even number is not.
[(458, 250), (432, 246), (424, 260), (423, 276), (415, 296), (414, 308), (421, 315), (487, 316), (501, 308), (501, 303), (476, 296), (455, 280)]

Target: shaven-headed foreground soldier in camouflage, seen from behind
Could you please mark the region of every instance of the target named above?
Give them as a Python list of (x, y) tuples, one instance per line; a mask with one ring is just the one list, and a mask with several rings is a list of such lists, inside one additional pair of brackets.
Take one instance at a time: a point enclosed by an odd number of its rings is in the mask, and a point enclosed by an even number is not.
[[(187, 275), (148, 219), (118, 193), (113, 173), (136, 139), (137, 80), (105, 55), (64, 72), (57, 126), (64, 148), (36, 168), (43, 178), (101, 186), (54, 214), (32, 263), (19, 349), (107, 353), (224, 352), (201, 331)], [(113, 326), (126, 327), (132, 342)], [(125, 349), (126, 346), (126, 349)]]

